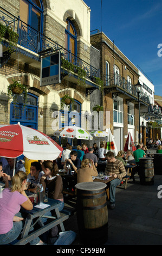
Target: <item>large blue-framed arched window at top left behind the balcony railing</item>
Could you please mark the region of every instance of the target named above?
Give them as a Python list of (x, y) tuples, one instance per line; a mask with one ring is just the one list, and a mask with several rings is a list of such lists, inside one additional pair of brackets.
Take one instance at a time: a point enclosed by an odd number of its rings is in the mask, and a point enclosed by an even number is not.
[(40, 33), (43, 32), (42, 0), (20, 0), (20, 19), (21, 45), (37, 51)]

